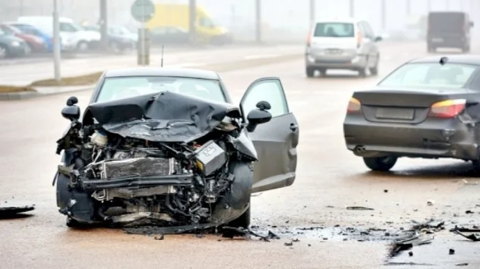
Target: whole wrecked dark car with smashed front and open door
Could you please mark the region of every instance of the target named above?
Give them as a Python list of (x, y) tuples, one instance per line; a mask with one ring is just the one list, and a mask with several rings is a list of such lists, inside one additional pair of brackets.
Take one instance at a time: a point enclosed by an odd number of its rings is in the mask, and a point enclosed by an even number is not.
[(294, 183), (298, 125), (278, 78), (237, 107), (216, 72), (110, 70), (82, 117), (77, 102), (56, 151), (67, 226), (248, 227), (250, 194)]

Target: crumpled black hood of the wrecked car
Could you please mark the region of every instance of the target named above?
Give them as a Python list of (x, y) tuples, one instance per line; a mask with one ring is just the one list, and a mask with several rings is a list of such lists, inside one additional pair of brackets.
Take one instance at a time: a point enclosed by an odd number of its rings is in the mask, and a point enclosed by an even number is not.
[(173, 92), (97, 102), (84, 114), (107, 132), (157, 142), (189, 143), (211, 132), (229, 116), (240, 118), (238, 107)]

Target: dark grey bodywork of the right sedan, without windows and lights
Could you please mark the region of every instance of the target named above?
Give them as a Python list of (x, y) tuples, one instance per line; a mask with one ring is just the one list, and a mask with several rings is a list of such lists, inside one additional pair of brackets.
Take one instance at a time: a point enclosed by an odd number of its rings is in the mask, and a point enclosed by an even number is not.
[[(438, 63), (440, 56), (409, 63)], [(480, 66), (480, 56), (448, 56), (449, 63)], [(439, 63), (440, 64), (440, 63)], [(355, 91), (362, 112), (344, 120), (346, 147), (360, 157), (451, 157), (479, 160), (480, 70), (477, 68), (462, 89), (385, 89)], [(435, 102), (467, 100), (455, 118), (427, 116)], [(411, 120), (378, 118), (378, 109), (403, 109), (415, 114)], [(393, 113), (401, 113), (401, 110)], [(399, 115), (397, 115), (399, 116)]]

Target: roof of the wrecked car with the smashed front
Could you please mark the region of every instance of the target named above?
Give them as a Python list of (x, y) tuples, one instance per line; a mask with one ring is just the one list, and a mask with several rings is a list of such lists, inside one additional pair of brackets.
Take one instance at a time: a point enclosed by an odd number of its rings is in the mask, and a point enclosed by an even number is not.
[(120, 68), (108, 70), (104, 74), (105, 77), (191, 77), (195, 79), (215, 79), (220, 77), (211, 70), (202, 70), (195, 68), (154, 68), (154, 67), (136, 67), (136, 68)]

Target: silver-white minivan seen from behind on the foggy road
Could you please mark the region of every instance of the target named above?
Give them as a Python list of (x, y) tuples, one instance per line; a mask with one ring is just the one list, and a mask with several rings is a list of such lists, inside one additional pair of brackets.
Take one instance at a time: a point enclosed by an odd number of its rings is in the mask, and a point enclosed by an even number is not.
[(317, 21), (307, 40), (306, 75), (313, 77), (316, 70), (326, 75), (328, 69), (354, 70), (362, 77), (377, 75), (380, 52), (376, 43), (380, 40), (364, 20)]

